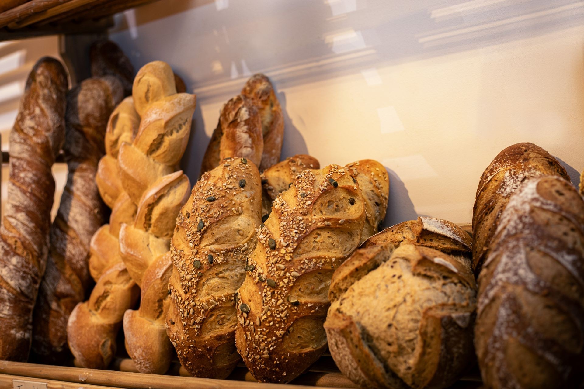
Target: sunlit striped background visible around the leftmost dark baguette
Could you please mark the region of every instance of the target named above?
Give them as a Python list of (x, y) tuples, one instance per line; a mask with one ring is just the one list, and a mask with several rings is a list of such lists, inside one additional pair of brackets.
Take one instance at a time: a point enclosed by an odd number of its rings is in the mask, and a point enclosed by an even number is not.
[[(44, 55), (58, 57), (57, 37), (32, 38), (18, 41), (0, 42), (0, 135), (2, 135), (2, 151), (8, 151), (8, 138), (16, 114), (20, 97), (25, 90), (26, 77), (34, 63)], [(62, 188), (67, 180), (67, 165), (55, 164), (55, 191), (53, 218), (57, 214)], [(8, 164), (2, 164), (2, 214), (4, 215), (7, 195)]]

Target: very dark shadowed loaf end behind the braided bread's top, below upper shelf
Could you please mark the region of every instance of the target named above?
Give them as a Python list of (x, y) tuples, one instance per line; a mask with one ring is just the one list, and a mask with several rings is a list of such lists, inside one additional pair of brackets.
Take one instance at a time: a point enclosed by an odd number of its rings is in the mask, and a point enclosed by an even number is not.
[(110, 40), (100, 40), (89, 48), (89, 62), (93, 77), (114, 76), (124, 89), (124, 96), (132, 93), (134, 66), (121, 48)]

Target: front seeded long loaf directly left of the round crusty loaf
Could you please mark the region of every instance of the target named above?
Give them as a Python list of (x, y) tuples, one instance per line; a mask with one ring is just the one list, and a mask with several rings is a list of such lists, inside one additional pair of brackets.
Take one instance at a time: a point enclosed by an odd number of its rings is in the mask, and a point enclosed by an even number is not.
[(331, 276), (364, 222), (359, 184), (338, 165), (304, 170), (276, 198), (237, 304), (235, 344), (256, 379), (291, 381), (325, 351)]

